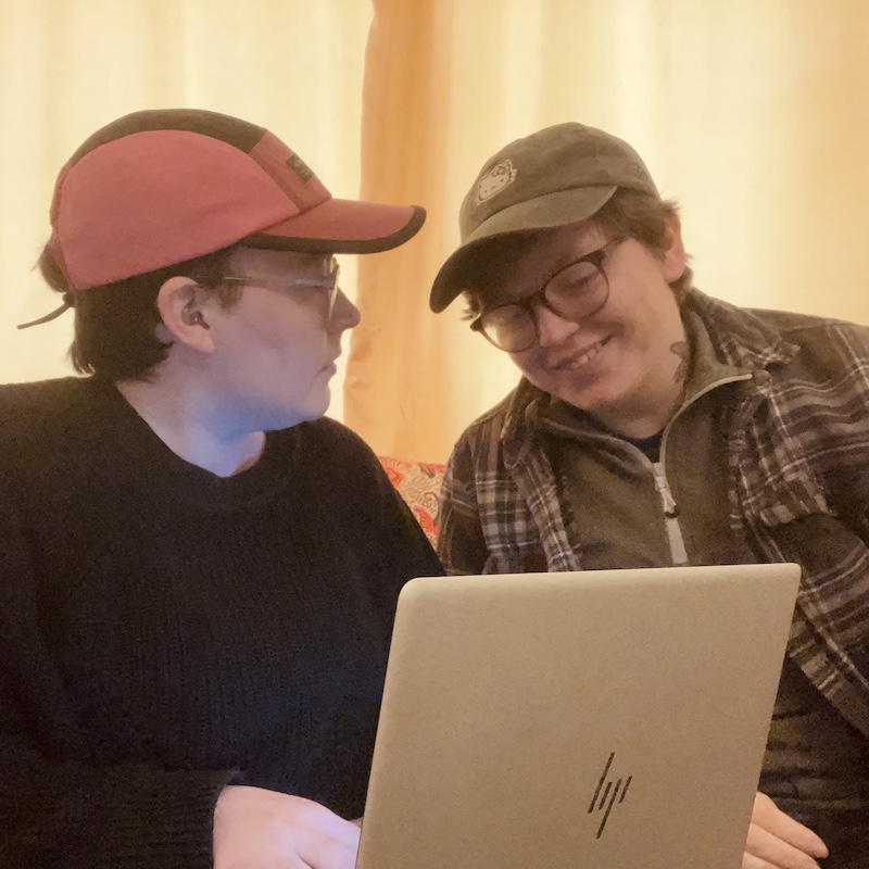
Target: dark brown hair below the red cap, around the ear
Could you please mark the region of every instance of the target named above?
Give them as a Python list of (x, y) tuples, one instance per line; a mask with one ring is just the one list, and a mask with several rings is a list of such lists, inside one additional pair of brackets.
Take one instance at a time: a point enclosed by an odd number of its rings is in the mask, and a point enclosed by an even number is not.
[(46, 245), (39, 257), (39, 270), (49, 287), (63, 293), (75, 308), (75, 335), (70, 348), (75, 369), (112, 381), (148, 380), (172, 345), (156, 336), (156, 327), (162, 323), (156, 305), (160, 288), (176, 275), (196, 276), (197, 284), (214, 293), (224, 307), (231, 307), (238, 302), (241, 288), (223, 282), (223, 278), (238, 247), (71, 292), (63, 269)]

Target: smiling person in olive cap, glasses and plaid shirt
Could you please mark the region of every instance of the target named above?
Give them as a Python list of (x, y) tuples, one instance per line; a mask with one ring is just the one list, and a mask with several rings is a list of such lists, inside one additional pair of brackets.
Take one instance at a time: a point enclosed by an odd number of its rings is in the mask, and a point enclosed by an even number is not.
[(675, 204), (581, 124), (488, 160), (459, 227), (431, 308), (521, 378), (450, 458), (448, 572), (798, 563), (743, 867), (869, 867), (869, 331), (696, 290)]

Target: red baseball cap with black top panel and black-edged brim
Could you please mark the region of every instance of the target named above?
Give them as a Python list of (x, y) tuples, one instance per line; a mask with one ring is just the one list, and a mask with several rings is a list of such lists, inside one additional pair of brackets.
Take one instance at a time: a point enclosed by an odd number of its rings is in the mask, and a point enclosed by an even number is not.
[(425, 217), (415, 206), (333, 199), (263, 127), (196, 109), (151, 110), (98, 130), (61, 169), (49, 245), (76, 291), (242, 239), (375, 253), (407, 241)]

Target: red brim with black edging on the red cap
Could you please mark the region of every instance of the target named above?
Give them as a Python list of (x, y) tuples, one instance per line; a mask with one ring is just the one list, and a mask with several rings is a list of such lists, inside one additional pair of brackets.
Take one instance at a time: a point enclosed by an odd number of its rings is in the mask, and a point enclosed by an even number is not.
[(425, 210), (415, 205), (328, 199), (248, 236), (242, 243), (311, 253), (378, 253), (413, 238), (425, 221)]

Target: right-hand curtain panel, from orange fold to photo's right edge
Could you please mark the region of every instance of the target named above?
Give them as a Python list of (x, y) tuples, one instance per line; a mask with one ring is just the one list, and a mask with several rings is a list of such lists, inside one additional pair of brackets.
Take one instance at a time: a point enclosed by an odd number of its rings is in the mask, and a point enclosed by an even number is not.
[(869, 3), (375, 0), (363, 178), (419, 202), (418, 239), (361, 263), (345, 421), (443, 461), (516, 381), (461, 304), (426, 310), (459, 202), (513, 138), (581, 121), (630, 141), (682, 205), (696, 282), (869, 323)]

